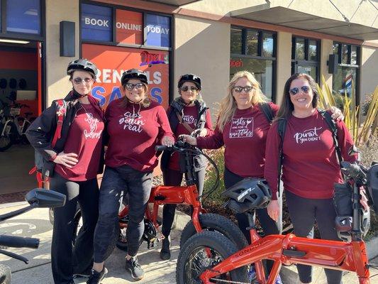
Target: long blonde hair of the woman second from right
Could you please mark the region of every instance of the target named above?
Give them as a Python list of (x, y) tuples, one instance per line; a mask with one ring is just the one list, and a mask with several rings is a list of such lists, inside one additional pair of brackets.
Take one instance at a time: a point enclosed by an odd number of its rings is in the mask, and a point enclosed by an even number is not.
[(221, 132), (223, 132), (224, 126), (228, 123), (228, 121), (231, 120), (233, 114), (235, 114), (237, 105), (233, 97), (233, 87), (235, 87), (236, 82), (238, 82), (238, 80), (243, 77), (247, 79), (253, 87), (251, 91), (253, 92), (253, 95), (250, 101), (252, 106), (255, 106), (260, 102), (269, 101), (269, 99), (267, 99), (267, 97), (265, 97), (265, 95), (262, 94), (260, 84), (259, 82), (257, 82), (255, 76), (253, 76), (251, 72), (248, 72), (246, 70), (237, 72), (235, 75), (233, 75), (233, 78), (230, 80), (230, 83), (228, 83), (228, 94), (221, 100), (221, 106), (219, 107), (217, 126), (219, 131)]

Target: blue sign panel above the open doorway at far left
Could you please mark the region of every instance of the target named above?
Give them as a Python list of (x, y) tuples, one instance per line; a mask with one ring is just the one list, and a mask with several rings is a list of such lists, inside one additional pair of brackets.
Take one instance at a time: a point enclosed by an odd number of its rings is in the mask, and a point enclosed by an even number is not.
[(6, 1), (6, 31), (40, 34), (40, 0)]

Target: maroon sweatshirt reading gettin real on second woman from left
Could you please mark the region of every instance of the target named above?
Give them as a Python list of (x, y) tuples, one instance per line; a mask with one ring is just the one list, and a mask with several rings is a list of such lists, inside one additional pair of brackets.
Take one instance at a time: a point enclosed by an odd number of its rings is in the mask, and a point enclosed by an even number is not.
[(150, 107), (128, 102), (126, 108), (121, 102), (116, 99), (106, 109), (109, 143), (105, 164), (150, 172), (157, 165), (155, 146), (161, 144), (163, 136), (174, 138), (165, 109), (157, 102), (151, 102)]

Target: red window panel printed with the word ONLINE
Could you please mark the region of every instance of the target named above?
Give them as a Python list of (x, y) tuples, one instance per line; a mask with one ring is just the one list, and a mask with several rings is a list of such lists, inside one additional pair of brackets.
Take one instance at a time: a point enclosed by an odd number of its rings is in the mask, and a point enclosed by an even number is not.
[(143, 13), (117, 10), (116, 40), (118, 43), (143, 44)]

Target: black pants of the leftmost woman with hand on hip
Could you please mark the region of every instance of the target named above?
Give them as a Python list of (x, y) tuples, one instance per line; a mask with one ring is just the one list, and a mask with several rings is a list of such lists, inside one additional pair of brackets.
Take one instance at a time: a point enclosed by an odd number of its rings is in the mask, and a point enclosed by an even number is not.
[[(73, 182), (55, 173), (50, 188), (67, 196), (64, 207), (54, 209), (51, 243), (52, 277), (55, 284), (71, 283), (73, 273), (82, 273), (93, 263), (93, 237), (99, 217), (99, 185), (96, 178)], [(72, 249), (77, 202), (82, 210), (83, 226)]]

